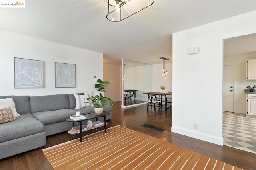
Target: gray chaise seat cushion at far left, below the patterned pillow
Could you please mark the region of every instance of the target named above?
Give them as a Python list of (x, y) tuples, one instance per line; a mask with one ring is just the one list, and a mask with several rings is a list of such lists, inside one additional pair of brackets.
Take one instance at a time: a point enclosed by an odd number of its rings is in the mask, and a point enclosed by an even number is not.
[(15, 121), (1, 124), (0, 142), (44, 132), (44, 125), (32, 114), (22, 114)]

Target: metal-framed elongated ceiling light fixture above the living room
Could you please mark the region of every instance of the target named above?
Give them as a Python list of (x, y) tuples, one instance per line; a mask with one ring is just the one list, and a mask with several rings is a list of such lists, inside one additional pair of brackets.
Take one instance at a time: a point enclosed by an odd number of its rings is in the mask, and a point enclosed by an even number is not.
[(151, 6), (154, 0), (106, 0), (108, 3), (107, 19), (112, 22), (122, 21)]

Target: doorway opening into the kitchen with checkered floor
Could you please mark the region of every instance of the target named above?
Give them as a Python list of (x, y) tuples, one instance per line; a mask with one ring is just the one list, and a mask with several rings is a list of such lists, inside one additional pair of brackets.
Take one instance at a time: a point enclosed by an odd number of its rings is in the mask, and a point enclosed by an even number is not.
[(222, 135), (224, 145), (256, 154), (256, 118), (245, 116), (244, 90), (256, 84), (256, 80), (246, 80), (246, 60), (256, 59), (255, 42), (256, 34), (224, 40)]

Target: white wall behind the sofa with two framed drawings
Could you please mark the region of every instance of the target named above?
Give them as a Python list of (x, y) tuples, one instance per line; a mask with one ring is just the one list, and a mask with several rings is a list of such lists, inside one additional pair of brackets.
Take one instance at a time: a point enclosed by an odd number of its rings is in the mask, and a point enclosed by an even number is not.
[[(44, 88), (14, 89), (14, 57), (44, 61)], [(55, 88), (54, 62), (76, 64), (76, 88)], [(103, 78), (103, 54), (0, 31), (0, 78), (0, 96), (96, 91), (94, 84)]]

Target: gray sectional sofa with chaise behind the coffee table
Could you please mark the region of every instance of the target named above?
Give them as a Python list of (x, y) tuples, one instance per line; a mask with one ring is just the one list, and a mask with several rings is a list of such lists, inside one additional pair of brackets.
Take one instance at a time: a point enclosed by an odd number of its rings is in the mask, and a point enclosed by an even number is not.
[[(13, 98), (16, 111), (21, 115), (14, 121), (0, 124), (0, 159), (45, 146), (46, 136), (72, 128), (72, 123), (66, 118), (75, 115), (76, 111), (80, 111), (81, 115), (94, 113), (94, 107), (75, 110), (74, 94), (0, 98)], [(104, 111), (110, 113), (106, 119), (111, 119), (112, 106), (107, 105)]]

